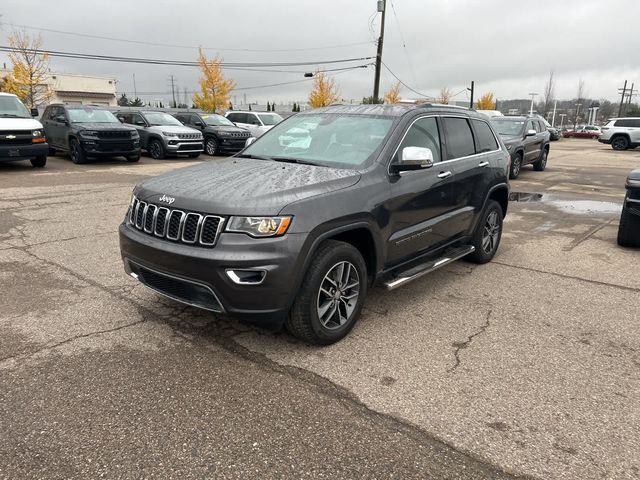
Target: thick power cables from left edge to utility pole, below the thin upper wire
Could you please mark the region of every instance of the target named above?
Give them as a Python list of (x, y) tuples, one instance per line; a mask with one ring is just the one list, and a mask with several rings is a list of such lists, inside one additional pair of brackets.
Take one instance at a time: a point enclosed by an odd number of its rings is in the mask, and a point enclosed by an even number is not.
[[(6, 45), (0, 45), (0, 51), (3, 52), (15, 52), (16, 49)], [(136, 57), (121, 57), (113, 55), (97, 55), (88, 53), (77, 52), (64, 52), (60, 50), (41, 50), (41, 49), (22, 49), (21, 51), (27, 53), (35, 53), (38, 55), (49, 55), (51, 57), (61, 58), (75, 58), (81, 60), (99, 60), (107, 62), (121, 62), (121, 63), (139, 63), (147, 65), (173, 65), (180, 67), (198, 67), (198, 62), (194, 61), (182, 61), (182, 60), (164, 60), (164, 59), (151, 59), (151, 58), (136, 58)], [(358, 57), (358, 58), (343, 58), (338, 60), (320, 60), (314, 62), (221, 62), (221, 66), (224, 68), (244, 68), (244, 67), (300, 67), (311, 65), (329, 65), (335, 63), (349, 63), (359, 62), (364, 60), (371, 60), (375, 57)]]

